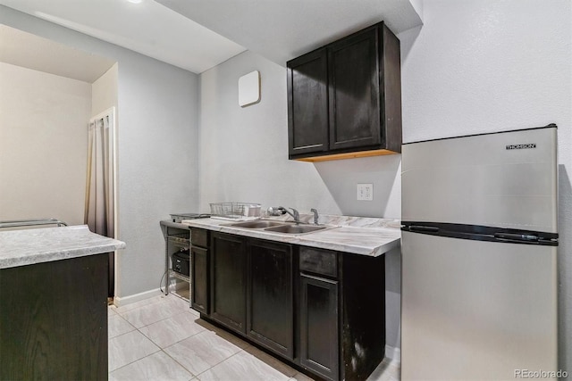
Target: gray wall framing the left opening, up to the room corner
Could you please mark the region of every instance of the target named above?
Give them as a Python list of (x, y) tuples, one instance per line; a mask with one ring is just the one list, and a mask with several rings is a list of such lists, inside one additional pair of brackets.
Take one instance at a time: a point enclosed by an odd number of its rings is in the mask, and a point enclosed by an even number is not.
[(164, 272), (159, 220), (198, 209), (198, 76), (3, 5), (0, 22), (119, 62), (118, 238), (127, 248), (115, 294), (156, 292)]

